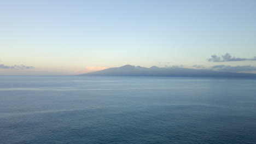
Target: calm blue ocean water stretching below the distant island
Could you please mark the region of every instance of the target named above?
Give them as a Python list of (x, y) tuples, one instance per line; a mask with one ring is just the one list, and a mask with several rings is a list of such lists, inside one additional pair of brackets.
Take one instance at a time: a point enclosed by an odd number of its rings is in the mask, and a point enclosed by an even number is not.
[(256, 143), (256, 80), (0, 76), (0, 143)]

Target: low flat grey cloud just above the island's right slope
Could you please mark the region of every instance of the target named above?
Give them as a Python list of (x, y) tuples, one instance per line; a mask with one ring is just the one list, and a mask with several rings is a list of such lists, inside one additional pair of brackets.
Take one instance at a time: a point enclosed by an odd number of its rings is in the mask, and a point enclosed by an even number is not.
[(254, 71), (256, 67), (252, 67), (251, 65), (238, 65), (236, 67), (232, 67), (230, 65), (215, 65), (212, 67), (218, 71), (225, 71), (225, 72), (240, 72), (240, 71)]

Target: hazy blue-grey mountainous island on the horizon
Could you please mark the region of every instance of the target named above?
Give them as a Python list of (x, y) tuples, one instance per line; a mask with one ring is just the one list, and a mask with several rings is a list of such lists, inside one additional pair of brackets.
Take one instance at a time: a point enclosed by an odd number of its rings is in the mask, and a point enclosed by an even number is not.
[(190, 69), (180, 67), (159, 68), (156, 66), (145, 68), (134, 65), (124, 65), (117, 68), (108, 68), (78, 76), (162, 76), (162, 77), (252, 77), (256, 74), (251, 73), (231, 73), (215, 71), (211, 69)]

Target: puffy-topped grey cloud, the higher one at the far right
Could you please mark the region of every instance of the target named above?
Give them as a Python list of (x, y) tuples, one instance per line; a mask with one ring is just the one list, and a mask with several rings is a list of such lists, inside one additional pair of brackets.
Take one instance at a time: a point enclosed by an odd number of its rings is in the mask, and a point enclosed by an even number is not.
[(211, 58), (208, 59), (208, 62), (233, 62), (233, 61), (256, 61), (256, 57), (254, 58), (232, 57), (229, 53), (226, 53), (224, 56), (221, 56), (221, 57), (212, 55)]

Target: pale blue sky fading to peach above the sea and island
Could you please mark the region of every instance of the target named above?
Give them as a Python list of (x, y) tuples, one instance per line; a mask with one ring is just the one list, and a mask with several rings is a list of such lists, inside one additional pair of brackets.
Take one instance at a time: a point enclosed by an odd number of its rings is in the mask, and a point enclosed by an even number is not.
[(0, 75), (126, 64), (256, 73), (255, 8), (254, 0), (0, 0)]

